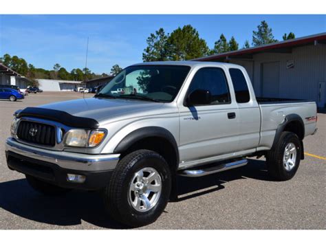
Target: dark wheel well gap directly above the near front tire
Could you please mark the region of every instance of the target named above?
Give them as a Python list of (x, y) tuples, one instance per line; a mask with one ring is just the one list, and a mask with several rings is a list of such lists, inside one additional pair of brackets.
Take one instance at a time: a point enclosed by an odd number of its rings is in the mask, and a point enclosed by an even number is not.
[(121, 153), (121, 157), (140, 149), (147, 149), (159, 153), (171, 168), (171, 173), (174, 173), (177, 170), (178, 164), (178, 155), (175, 151), (175, 148), (169, 140), (166, 140), (163, 137), (145, 137), (137, 142), (134, 142), (127, 150)]

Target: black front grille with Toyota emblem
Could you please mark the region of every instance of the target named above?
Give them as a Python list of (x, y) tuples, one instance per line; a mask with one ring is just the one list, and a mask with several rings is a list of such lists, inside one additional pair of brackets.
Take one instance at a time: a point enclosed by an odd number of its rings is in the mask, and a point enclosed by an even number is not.
[(25, 142), (32, 142), (45, 146), (54, 146), (56, 144), (55, 128), (49, 124), (23, 120), (19, 123), (17, 137)]

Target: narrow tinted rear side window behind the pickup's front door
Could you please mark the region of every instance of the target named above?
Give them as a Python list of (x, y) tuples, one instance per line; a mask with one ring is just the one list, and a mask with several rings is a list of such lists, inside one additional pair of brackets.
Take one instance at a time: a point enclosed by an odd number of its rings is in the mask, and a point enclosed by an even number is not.
[(233, 87), (235, 88), (235, 98), (238, 103), (250, 101), (250, 93), (246, 78), (240, 69), (229, 69)]

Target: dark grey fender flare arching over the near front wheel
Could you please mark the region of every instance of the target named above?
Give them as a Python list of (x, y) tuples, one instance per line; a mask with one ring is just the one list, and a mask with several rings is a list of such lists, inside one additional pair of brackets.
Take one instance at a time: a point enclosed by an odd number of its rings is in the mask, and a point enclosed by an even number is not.
[(114, 148), (113, 153), (123, 153), (127, 149), (140, 140), (144, 140), (146, 137), (161, 137), (164, 140), (170, 142), (175, 150), (175, 155), (177, 156), (177, 166), (179, 164), (179, 149), (175, 137), (170, 131), (159, 126), (148, 126), (132, 131), (126, 135)]

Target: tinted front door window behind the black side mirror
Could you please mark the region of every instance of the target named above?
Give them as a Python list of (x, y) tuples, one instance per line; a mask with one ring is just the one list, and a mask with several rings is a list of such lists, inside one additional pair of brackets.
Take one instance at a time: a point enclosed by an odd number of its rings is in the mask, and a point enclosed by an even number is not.
[(212, 96), (210, 105), (231, 102), (228, 83), (223, 69), (215, 67), (199, 69), (191, 81), (188, 94), (197, 89), (210, 91)]

